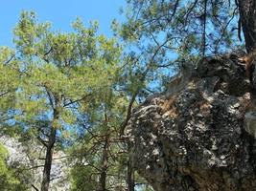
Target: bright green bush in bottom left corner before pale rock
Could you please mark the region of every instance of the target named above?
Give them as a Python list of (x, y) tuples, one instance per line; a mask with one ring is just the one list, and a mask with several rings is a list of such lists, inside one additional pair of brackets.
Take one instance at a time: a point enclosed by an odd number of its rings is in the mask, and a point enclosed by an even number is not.
[(8, 158), (8, 151), (0, 144), (0, 190), (3, 191), (19, 191), (27, 190), (24, 183), (15, 175), (14, 169), (10, 168), (6, 159)]

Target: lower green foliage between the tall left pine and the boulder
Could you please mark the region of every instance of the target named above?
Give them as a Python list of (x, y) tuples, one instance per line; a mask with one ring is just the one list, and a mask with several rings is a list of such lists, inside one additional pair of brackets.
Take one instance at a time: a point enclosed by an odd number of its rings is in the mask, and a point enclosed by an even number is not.
[[(98, 104), (94, 105), (94, 115), (88, 118), (88, 133), (86, 132), (87, 134), (70, 150), (70, 156), (73, 156), (71, 160), (76, 161), (75, 167), (71, 170), (73, 190), (95, 190), (101, 183), (99, 180), (103, 172), (107, 175), (106, 189), (124, 190), (126, 186), (126, 167), (122, 164), (125, 148), (122, 142), (118, 142), (118, 128), (125, 114), (123, 107), (127, 105), (127, 100), (114, 92), (103, 94), (105, 98), (98, 99)], [(81, 125), (86, 127), (83, 118)], [(83, 184), (87, 186), (82, 186)]]

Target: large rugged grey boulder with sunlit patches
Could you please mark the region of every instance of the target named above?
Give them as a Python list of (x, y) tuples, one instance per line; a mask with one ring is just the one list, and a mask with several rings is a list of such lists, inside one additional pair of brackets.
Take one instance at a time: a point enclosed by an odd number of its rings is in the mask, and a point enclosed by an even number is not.
[(155, 190), (256, 190), (255, 93), (243, 54), (202, 59), (182, 90), (133, 110), (129, 155)]

